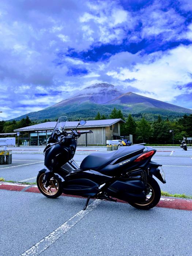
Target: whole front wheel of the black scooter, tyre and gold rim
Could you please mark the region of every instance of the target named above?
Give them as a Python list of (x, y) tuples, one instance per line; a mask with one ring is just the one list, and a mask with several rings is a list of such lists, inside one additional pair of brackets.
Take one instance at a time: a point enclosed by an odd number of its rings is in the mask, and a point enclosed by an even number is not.
[(63, 193), (62, 185), (56, 177), (51, 177), (48, 187), (45, 187), (43, 183), (43, 177), (45, 173), (38, 173), (37, 175), (37, 187), (39, 191), (46, 197), (56, 198)]

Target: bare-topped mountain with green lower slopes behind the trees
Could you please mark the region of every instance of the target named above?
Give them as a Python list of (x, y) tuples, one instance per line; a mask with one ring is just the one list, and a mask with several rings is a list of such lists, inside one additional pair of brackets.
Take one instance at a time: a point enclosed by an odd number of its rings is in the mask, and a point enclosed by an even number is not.
[(125, 116), (129, 113), (148, 113), (151, 117), (157, 114), (165, 117), (178, 117), (185, 113), (192, 113), (191, 109), (136, 93), (123, 94), (123, 91), (119, 88), (108, 83), (93, 84), (69, 99), (64, 99), (48, 108), (14, 119), (20, 120), (28, 115), (31, 120), (44, 120), (45, 118), (55, 120), (59, 116), (66, 115), (71, 120), (79, 118), (89, 120), (93, 119), (98, 111), (109, 116), (114, 107), (121, 109)]

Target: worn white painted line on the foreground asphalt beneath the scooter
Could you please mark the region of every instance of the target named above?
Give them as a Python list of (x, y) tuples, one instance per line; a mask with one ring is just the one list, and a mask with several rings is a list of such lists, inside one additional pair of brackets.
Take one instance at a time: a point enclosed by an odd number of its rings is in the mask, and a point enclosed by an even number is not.
[(81, 210), (76, 213), (73, 217), (68, 219), (68, 221), (64, 222), (60, 227), (52, 231), (42, 240), (37, 242), (37, 244), (33, 245), (27, 251), (23, 252), (20, 256), (33, 255), (37, 256), (44, 252), (50, 245), (52, 245), (55, 241), (57, 241), (63, 234), (65, 234), (69, 229), (71, 229), (75, 224), (77, 224), (81, 219), (83, 219), (89, 212), (91, 212), (95, 207), (97, 207), (102, 200), (96, 199), (93, 203), (91, 203), (85, 211)]

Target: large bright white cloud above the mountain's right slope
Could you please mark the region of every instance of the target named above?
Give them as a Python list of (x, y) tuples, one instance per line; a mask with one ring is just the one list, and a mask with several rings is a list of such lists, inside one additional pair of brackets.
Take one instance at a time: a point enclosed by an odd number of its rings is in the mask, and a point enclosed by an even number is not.
[(140, 56), (140, 63), (134, 68), (131, 65), (120, 67), (106, 74), (122, 82), (135, 79), (131, 85), (139, 89), (140, 94), (148, 97), (155, 94), (161, 101), (172, 102), (178, 95), (192, 92), (192, 88), (184, 86), (192, 82), (192, 46), (181, 45), (164, 53), (159, 52), (159, 58), (151, 63), (153, 55)]

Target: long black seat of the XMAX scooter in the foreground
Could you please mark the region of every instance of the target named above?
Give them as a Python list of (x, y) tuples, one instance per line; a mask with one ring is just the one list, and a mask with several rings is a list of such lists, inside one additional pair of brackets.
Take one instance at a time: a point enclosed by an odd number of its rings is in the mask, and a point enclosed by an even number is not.
[(121, 147), (111, 153), (92, 153), (83, 159), (80, 169), (82, 170), (99, 170), (109, 165), (115, 159), (132, 154), (136, 151), (144, 150), (143, 145), (133, 145), (129, 147)]

